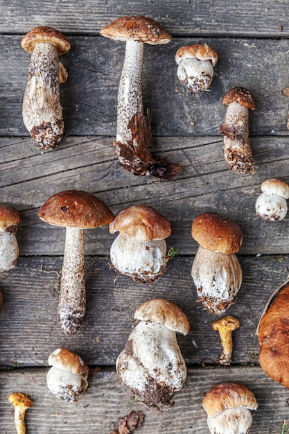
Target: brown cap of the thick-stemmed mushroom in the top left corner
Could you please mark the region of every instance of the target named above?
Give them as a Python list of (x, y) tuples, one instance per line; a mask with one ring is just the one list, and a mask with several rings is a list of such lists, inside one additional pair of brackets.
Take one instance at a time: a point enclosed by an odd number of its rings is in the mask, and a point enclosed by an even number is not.
[(66, 36), (53, 27), (40, 26), (30, 30), (21, 40), (21, 46), (28, 53), (33, 53), (36, 44), (46, 42), (53, 44), (58, 51), (58, 55), (67, 53), (70, 50), (71, 44)]

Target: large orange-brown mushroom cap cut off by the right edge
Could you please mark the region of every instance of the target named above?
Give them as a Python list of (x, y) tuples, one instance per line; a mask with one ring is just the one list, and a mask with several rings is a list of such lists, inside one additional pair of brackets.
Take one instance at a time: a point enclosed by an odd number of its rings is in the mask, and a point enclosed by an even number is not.
[(289, 389), (289, 285), (263, 316), (258, 332), (263, 371)]

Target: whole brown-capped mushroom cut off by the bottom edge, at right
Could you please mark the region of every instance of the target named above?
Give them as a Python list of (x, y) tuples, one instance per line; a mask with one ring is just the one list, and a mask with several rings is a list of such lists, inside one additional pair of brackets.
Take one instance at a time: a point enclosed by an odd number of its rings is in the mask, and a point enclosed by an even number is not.
[(218, 383), (205, 394), (202, 406), (211, 434), (247, 434), (253, 422), (250, 410), (258, 403), (245, 385)]

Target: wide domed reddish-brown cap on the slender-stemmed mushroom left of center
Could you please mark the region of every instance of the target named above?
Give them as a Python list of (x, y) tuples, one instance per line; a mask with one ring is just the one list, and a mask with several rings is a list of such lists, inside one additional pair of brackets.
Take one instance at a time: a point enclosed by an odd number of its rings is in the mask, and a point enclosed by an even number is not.
[(50, 225), (80, 228), (104, 226), (114, 219), (112, 211), (101, 200), (80, 190), (54, 194), (37, 215)]

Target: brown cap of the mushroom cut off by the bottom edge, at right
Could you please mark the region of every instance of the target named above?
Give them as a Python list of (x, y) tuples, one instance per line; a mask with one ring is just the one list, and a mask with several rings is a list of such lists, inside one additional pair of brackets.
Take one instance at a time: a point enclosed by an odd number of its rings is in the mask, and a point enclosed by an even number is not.
[(258, 403), (254, 394), (240, 383), (218, 383), (205, 394), (202, 406), (209, 417), (227, 408), (245, 407), (256, 410)]

